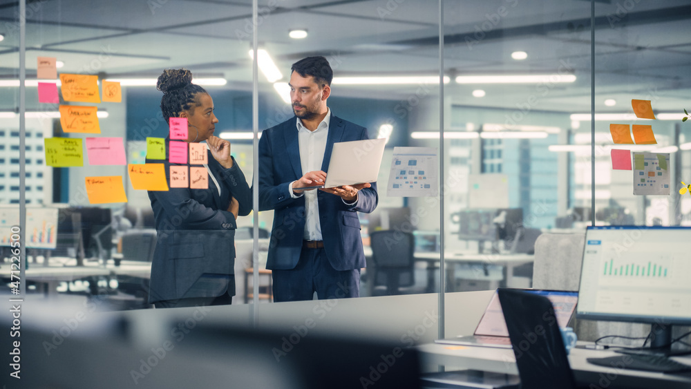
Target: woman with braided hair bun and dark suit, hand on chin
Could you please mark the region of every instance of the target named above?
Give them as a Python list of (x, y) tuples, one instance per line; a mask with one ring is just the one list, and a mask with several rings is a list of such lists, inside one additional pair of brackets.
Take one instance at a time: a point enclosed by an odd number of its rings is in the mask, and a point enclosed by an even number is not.
[[(208, 189), (170, 188), (149, 191), (157, 241), (151, 264), (149, 303), (155, 307), (229, 304), (235, 295), (236, 218), (252, 211), (245, 175), (230, 155), (230, 142), (214, 136), (218, 119), (214, 100), (192, 84), (189, 70), (164, 70), (156, 88), (163, 92), (166, 122), (186, 117), (187, 143), (207, 142)], [(165, 140), (168, 182), (170, 137)], [(160, 160), (146, 160), (160, 163)], [(189, 174), (188, 174), (189, 175)]]

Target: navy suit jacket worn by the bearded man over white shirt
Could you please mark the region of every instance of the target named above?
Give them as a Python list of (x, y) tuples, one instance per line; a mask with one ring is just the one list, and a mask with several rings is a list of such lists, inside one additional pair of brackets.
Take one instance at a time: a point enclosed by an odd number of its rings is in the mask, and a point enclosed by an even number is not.
[[(293, 269), (300, 258), (305, 230), (305, 196), (292, 198), (290, 182), (303, 176), (296, 117), (265, 130), (259, 140), (259, 210), (274, 209), (267, 269)], [(367, 129), (331, 116), (321, 170), (328, 173), (334, 143), (368, 139)], [(337, 270), (365, 267), (357, 212), (377, 207), (377, 184), (362, 189), (354, 206), (336, 195), (319, 191), (319, 221), (324, 249)]]

